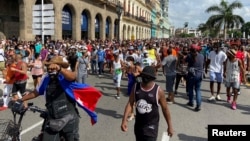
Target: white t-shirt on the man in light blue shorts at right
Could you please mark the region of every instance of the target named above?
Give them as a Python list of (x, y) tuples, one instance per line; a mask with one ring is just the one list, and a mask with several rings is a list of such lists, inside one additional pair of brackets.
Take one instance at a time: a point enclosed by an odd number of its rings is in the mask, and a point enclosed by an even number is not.
[(223, 51), (219, 51), (218, 54), (216, 54), (215, 51), (211, 51), (208, 54), (208, 59), (210, 60), (210, 65), (209, 65), (210, 72), (217, 72), (217, 73), (223, 72), (223, 63), (227, 59), (226, 53), (224, 53)]

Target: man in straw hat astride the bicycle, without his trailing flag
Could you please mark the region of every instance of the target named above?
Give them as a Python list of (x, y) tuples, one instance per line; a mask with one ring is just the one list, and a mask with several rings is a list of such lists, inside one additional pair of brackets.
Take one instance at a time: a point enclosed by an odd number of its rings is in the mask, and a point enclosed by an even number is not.
[(69, 64), (59, 56), (53, 57), (45, 65), (48, 73), (37, 88), (23, 96), (21, 100), (26, 101), (45, 95), (49, 119), (48, 123), (45, 123), (47, 126), (43, 131), (43, 141), (60, 141), (61, 137), (67, 141), (79, 141), (79, 113), (76, 101), (70, 98), (61, 86), (61, 79), (71, 83), (76, 80), (76, 75), (67, 70)]

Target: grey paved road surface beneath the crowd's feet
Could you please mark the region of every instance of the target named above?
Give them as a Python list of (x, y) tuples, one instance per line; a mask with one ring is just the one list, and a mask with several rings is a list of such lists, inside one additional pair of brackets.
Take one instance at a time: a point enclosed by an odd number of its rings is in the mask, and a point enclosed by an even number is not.
[[(157, 84), (164, 88), (164, 78), (159, 72)], [(98, 113), (98, 123), (92, 126), (90, 118), (80, 111), (80, 140), (81, 141), (133, 141), (133, 124), (129, 122), (129, 131), (124, 133), (120, 130), (121, 120), (124, 107), (128, 101), (126, 96), (126, 83), (122, 81), (121, 99), (117, 100), (115, 96), (115, 88), (112, 83), (112, 77), (105, 75), (101, 78), (89, 75), (87, 81), (92, 86), (102, 91), (103, 96), (100, 99), (96, 112)], [(2, 85), (0, 86), (2, 90)], [(33, 88), (32, 80), (29, 80), (28, 87)], [(208, 124), (249, 124), (250, 123), (250, 94), (249, 88), (242, 86), (242, 94), (238, 99), (238, 109), (231, 110), (225, 95), (225, 88), (222, 86), (221, 97), (224, 99), (220, 102), (208, 102), (210, 96), (209, 82), (204, 79), (202, 83), (202, 110), (194, 112), (192, 108), (186, 106), (187, 96), (184, 93), (184, 87), (180, 86), (179, 93), (175, 98), (175, 104), (169, 105), (175, 134), (171, 141), (206, 141)], [(35, 105), (44, 107), (44, 97), (38, 97), (31, 100)], [(11, 118), (11, 111), (1, 111), (0, 118)], [(29, 141), (40, 130), (41, 118), (36, 113), (27, 112), (23, 120), (22, 139)], [(162, 141), (162, 134), (166, 131), (167, 125), (161, 115), (160, 129), (158, 141)]]

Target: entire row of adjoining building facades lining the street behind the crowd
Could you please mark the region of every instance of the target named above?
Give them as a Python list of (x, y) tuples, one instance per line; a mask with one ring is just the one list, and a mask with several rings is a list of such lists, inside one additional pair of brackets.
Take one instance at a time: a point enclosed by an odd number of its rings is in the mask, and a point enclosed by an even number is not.
[[(54, 40), (160, 38), (159, 0), (43, 0), (54, 10)], [(118, 19), (117, 5), (123, 12)], [(34, 40), (33, 7), (42, 0), (0, 1), (0, 35)], [(164, 21), (164, 20), (163, 20)], [(160, 28), (159, 28), (160, 27)], [(160, 29), (160, 30), (159, 30)], [(119, 35), (118, 35), (119, 34)]]

